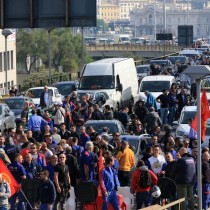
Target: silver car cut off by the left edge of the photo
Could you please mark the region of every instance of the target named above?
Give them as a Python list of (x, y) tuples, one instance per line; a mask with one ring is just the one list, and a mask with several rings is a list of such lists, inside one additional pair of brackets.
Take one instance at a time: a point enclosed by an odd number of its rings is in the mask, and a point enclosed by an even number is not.
[(15, 128), (15, 114), (5, 103), (0, 104), (0, 130)]

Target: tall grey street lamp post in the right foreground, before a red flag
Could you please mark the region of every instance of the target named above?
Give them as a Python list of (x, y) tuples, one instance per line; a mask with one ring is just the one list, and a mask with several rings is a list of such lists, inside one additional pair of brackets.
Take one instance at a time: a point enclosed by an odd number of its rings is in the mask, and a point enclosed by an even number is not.
[(188, 75), (195, 80), (196, 83), (196, 94), (197, 94), (197, 113), (198, 113), (198, 124), (197, 124), (197, 137), (198, 137), (198, 155), (197, 155), (197, 183), (198, 183), (198, 207), (202, 209), (202, 171), (201, 171), (201, 79), (210, 74), (210, 67), (204, 65), (189, 66), (183, 74)]

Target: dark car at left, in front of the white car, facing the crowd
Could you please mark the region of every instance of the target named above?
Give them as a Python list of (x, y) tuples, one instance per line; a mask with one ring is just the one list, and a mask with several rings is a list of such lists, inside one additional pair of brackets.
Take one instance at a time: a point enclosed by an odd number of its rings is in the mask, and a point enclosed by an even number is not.
[(34, 106), (32, 99), (29, 97), (24, 97), (24, 96), (5, 98), (5, 99), (3, 99), (3, 101), (14, 112), (16, 120), (21, 119), (20, 114), (21, 114), (21, 111), (22, 111), (26, 101), (29, 102), (29, 105), (31, 107)]

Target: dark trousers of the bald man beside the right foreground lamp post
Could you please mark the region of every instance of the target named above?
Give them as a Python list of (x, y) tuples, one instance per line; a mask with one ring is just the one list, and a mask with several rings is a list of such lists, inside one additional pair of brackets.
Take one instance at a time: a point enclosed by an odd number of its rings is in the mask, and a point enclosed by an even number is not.
[(186, 210), (187, 203), (188, 203), (188, 209), (194, 210), (194, 195), (193, 195), (193, 185), (189, 184), (183, 184), (183, 185), (177, 185), (177, 194), (178, 198), (187, 198), (187, 202), (182, 202), (180, 204), (180, 210)]

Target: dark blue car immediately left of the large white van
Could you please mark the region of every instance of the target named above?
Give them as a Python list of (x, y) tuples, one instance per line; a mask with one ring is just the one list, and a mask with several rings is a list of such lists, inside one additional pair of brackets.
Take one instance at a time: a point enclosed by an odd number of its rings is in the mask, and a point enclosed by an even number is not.
[(78, 84), (79, 84), (78, 81), (64, 81), (64, 82), (58, 82), (53, 86), (58, 89), (63, 100), (65, 96), (70, 95), (73, 91), (77, 90)]

